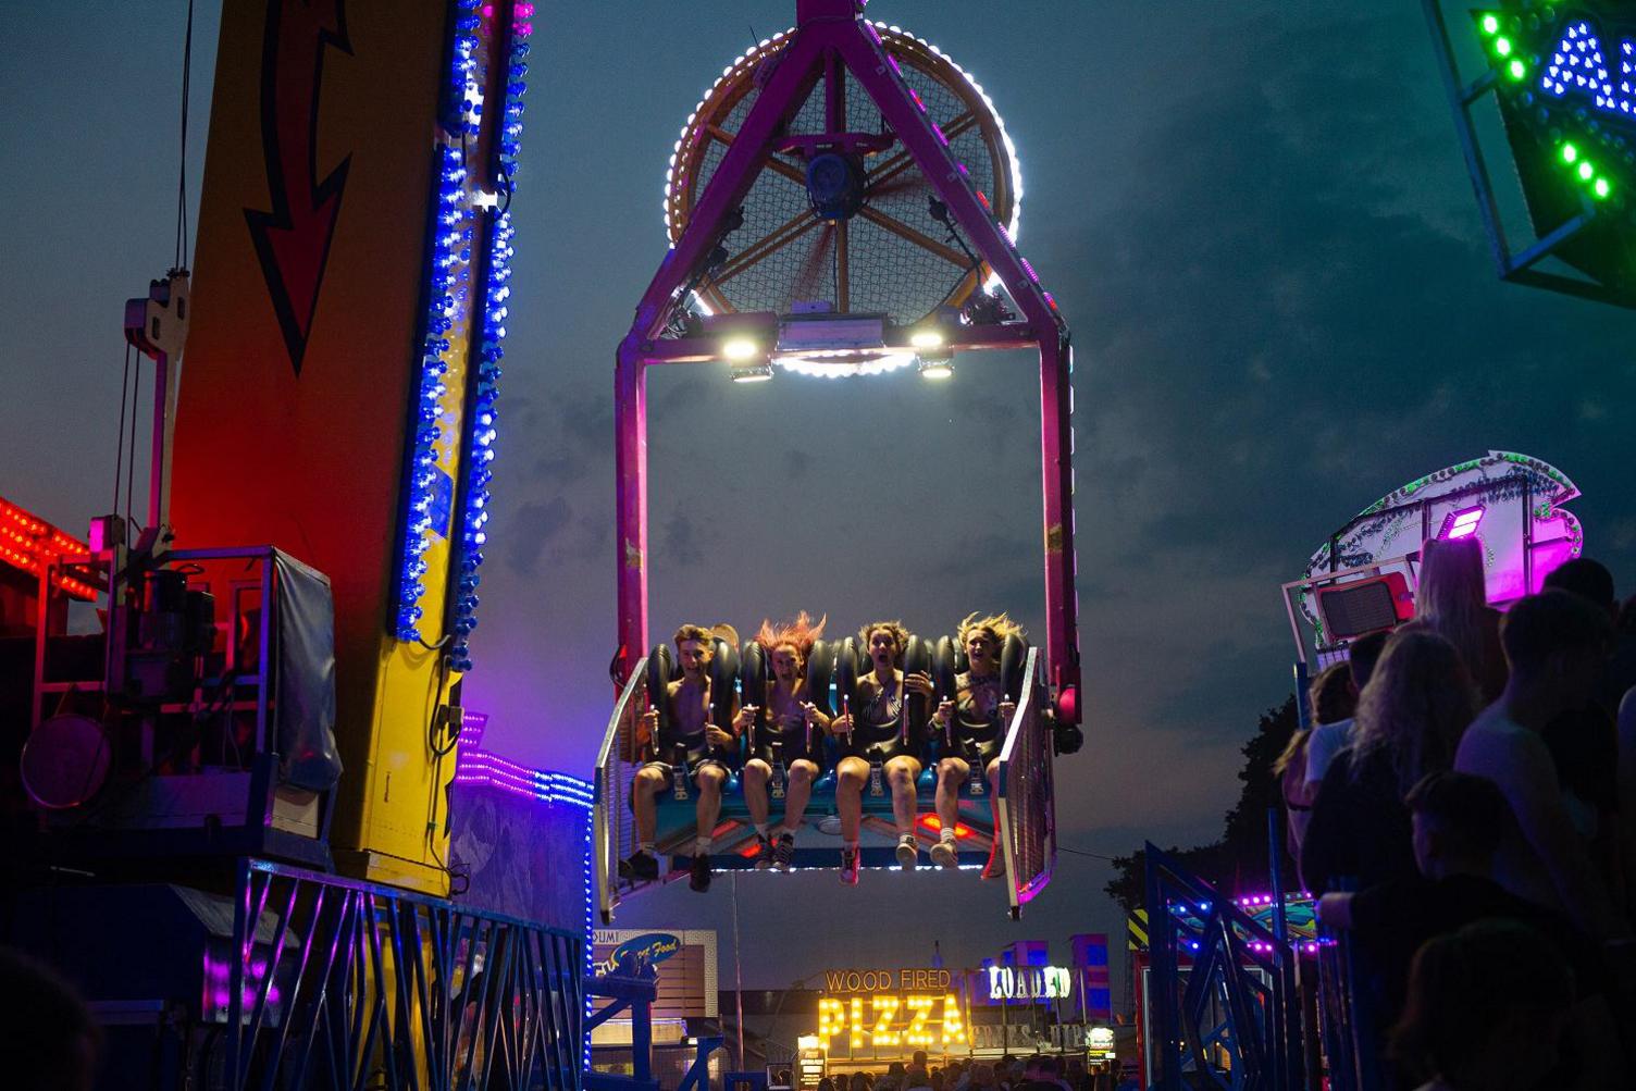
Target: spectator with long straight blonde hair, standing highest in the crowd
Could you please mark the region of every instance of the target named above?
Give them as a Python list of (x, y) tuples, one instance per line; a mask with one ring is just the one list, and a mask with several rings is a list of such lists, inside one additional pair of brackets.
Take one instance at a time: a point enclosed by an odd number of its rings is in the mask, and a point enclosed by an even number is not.
[(1454, 644), (1482, 703), (1500, 695), (1507, 674), (1500, 613), (1489, 607), (1479, 538), (1433, 538), (1422, 546), (1415, 622)]

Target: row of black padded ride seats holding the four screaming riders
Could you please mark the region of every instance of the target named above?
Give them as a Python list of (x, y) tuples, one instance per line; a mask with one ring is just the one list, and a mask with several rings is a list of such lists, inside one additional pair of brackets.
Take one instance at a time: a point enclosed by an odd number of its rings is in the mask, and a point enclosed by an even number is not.
[[(769, 730), (767, 695), (774, 685), (771, 653), (771, 648), (762, 648), (757, 641), (749, 641), (744, 644), (741, 654), (726, 640), (715, 638), (715, 653), (707, 666), (712, 723), (720, 726), (730, 725), (733, 721), (733, 710), (738, 705), (754, 705), (757, 710), (754, 725), (738, 739), (735, 752), (728, 754), (728, 764), (735, 770), (728, 779), (725, 792), (728, 797), (743, 795), (738, 769), (743, 767), (751, 733)], [(1027, 641), (1016, 635), (1006, 636), (1000, 651), (1000, 676), (1006, 698), (1011, 702), (1021, 698), (1026, 659)], [(937, 759), (942, 746), (941, 734), (929, 730), (931, 718), (941, 702), (955, 700), (955, 679), (965, 674), (970, 664), (967, 662), (965, 648), (959, 640), (941, 636), (931, 641), (911, 635), (898, 667), (905, 674), (926, 674), (933, 680), (934, 694), (931, 698), (910, 694), (906, 700), (910, 733), (915, 738), (926, 739), (926, 749), (921, 756), (923, 770), (916, 783), (916, 792), (929, 800), (937, 787)], [(872, 671), (874, 664), (869, 659), (869, 653), (856, 636), (846, 636), (838, 641), (815, 641), (811, 654), (807, 658), (807, 698), (818, 712), (831, 718), (841, 708), (857, 708), (859, 682)], [(648, 653), (646, 685), (653, 708), (659, 713), (661, 736), (671, 734), (671, 708), (669, 702), (659, 698), (659, 695), (666, 692), (669, 682), (681, 679), (681, 666), (676, 662), (669, 644), (658, 644)], [(813, 783), (813, 798), (834, 793), (834, 765), (839, 761), (839, 739), (826, 736), (825, 752), (828, 759), (820, 770), (818, 780)], [(774, 790), (782, 795), (782, 770), (774, 770)], [(962, 795), (982, 797), (985, 793), (983, 770), (972, 770), (972, 779), (962, 788)], [(872, 770), (870, 787), (865, 788), (865, 798), (870, 795), (877, 798), (882, 795), (879, 769)]]

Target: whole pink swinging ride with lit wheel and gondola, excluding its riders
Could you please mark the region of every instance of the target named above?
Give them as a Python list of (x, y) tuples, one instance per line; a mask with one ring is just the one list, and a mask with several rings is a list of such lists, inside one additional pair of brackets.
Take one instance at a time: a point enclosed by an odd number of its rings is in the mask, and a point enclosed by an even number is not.
[[(615, 355), (620, 698), (597, 764), (604, 919), (641, 885), (618, 870), (635, 847), (627, 806), (643, 756), (636, 723), (663, 705), (672, 677), (663, 648), (643, 656), (651, 641), (646, 376), (654, 366), (726, 361), (744, 383), (780, 375), (864, 383), (905, 366), (947, 378), (955, 353), (1037, 352), (1045, 646), (1013, 659), (1016, 713), (1005, 725), (998, 798), (985, 798), (983, 777), (973, 777), (955, 833), (967, 864), (998, 842), (1013, 916), (1049, 882), (1052, 756), (1080, 739), (1073, 355), (1055, 299), (1018, 250), (1021, 198), (1016, 152), (982, 87), (936, 46), (865, 20), (862, 0), (798, 0), (797, 25), (736, 57), (689, 114), (666, 178), (669, 250)], [(939, 697), (952, 697), (951, 653), (934, 662), (939, 643), (936, 635), (911, 640), (905, 667), (939, 667)], [(743, 671), (726, 662), (733, 648), (718, 649), (713, 692), (731, 692), (736, 672), (759, 694), (767, 649), (739, 649)], [(843, 641), (813, 656), (820, 661), (826, 666), (813, 667), (808, 690), (839, 712), (857, 653)], [(924, 723), (916, 700), (910, 718)], [(715, 867), (749, 867), (753, 833), (736, 783), (720, 824), (697, 831), (689, 785), (679, 780), (659, 800), (661, 855), (690, 852), (694, 836), (710, 833)], [(833, 777), (818, 782), (813, 810), (828, 790)], [(929, 772), (919, 790), (926, 815)], [(879, 772), (864, 810), (869, 826), (890, 829)], [(916, 833), (937, 836), (926, 818)], [(890, 847), (865, 842), (865, 867), (888, 857)], [(797, 865), (820, 865), (820, 857), (798, 849)]]

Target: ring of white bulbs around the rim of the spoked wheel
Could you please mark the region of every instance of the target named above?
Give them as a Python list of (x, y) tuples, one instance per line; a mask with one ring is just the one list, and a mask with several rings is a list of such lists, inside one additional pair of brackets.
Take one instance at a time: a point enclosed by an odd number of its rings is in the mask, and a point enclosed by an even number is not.
[[(1022, 167), (1018, 159), (1016, 144), (1006, 131), (1005, 119), (995, 108), (988, 92), (949, 54), (926, 39), (887, 23), (870, 21), (870, 26), (879, 33), (888, 56), (895, 57), (900, 64), (908, 61), (916, 70), (942, 83), (977, 114), (978, 134), (995, 165), (995, 191), (987, 196), (996, 218), (1003, 218), (1003, 226), (1014, 244), (1022, 226)], [(792, 41), (793, 33), (795, 28), (779, 31), (771, 38), (764, 38), (754, 49), (735, 57), (730, 65), (721, 69), (721, 75), (703, 93), (692, 113), (687, 114), (687, 121), (682, 124), (681, 136), (671, 150), (669, 165), (664, 172), (661, 208), (664, 213), (666, 237), (672, 249), (681, 239), (692, 213), (692, 178), (705, 162), (705, 150), (713, 139), (708, 126), (731, 116), (744, 97), (757, 90), (754, 80), (756, 70), (782, 51)], [(1000, 285), (1000, 276), (987, 262), (983, 262), (982, 268), (983, 288), (993, 291)], [(969, 293), (970, 288), (962, 288), (962, 291)], [(694, 293), (692, 301), (699, 311), (715, 314), (730, 309), (718, 293), (710, 293), (708, 290), (707, 293), (708, 298), (705, 293)]]

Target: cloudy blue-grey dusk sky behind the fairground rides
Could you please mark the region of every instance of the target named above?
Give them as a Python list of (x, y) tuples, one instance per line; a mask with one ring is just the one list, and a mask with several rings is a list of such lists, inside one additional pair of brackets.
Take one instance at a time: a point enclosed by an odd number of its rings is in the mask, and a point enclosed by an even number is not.
[[(183, 13), (0, 13), (0, 496), (74, 533), (110, 504), (123, 301), (172, 258)], [(877, 0), (870, 15), (939, 44), (995, 100), (1022, 164), (1021, 249), (1073, 329), (1088, 741), (1057, 765), (1063, 846), (1219, 833), (1238, 748), (1289, 692), (1279, 584), (1423, 473), (1490, 448), (1544, 458), (1585, 492), (1569, 507), (1587, 553), (1636, 590), (1636, 322), (1495, 280), (1417, 0)], [(491, 713), (486, 744), (519, 761), (589, 774), (615, 643), (614, 347), (664, 254), (682, 121), (753, 33), (792, 18), (790, 0), (535, 16), (465, 692)], [(200, 3), (195, 206), (216, 25)], [(834, 635), (875, 617), (941, 635), (973, 608), (1042, 635), (1036, 365), (957, 370), (944, 386), (653, 375), (654, 636), (797, 610)], [(746, 877), (746, 983), (913, 963), (933, 939), (954, 965), (1013, 939), (1065, 955), (1078, 931), (1122, 947), (1106, 880), (1065, 854), (1013, 926), (972, 875), (865, 873), (857, 891), (833, 873)], [(728, 937), (728, 895), (677, 883), (618, 923)], [(787, 927), (818, 929), (823, 954), (792, 950)]]

